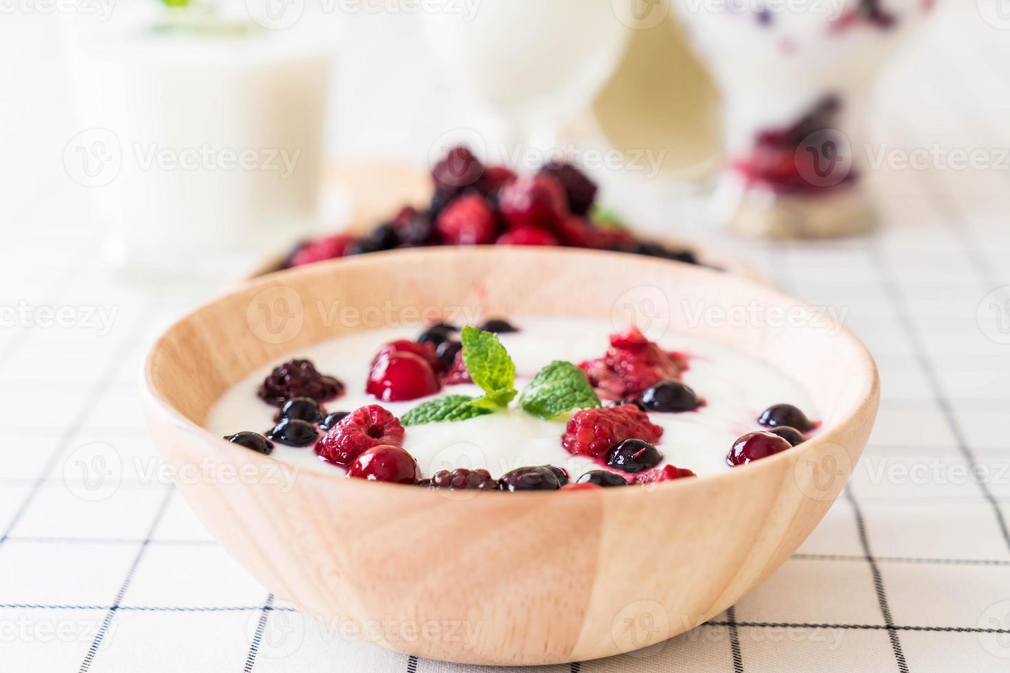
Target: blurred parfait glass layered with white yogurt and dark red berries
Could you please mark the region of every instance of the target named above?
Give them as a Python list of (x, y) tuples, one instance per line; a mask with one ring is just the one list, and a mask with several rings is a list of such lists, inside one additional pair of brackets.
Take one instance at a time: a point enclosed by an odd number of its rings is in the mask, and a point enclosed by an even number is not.
[(722, 96), (715, 218), (750, 237), (860, 233), (866, 102), (923, 0), (677, 0)]

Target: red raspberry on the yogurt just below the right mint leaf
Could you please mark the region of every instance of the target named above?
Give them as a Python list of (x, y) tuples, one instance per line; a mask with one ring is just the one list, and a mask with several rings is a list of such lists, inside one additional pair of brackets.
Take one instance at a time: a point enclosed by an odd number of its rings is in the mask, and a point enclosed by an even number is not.
[(621, 405), (577, 412), (562, 436), (562, 446), (569, 453), (600, 458), (626, 439), (654, 444), (662, 436), (663, 428), (650, 423), (644, 412), (633, 405)]

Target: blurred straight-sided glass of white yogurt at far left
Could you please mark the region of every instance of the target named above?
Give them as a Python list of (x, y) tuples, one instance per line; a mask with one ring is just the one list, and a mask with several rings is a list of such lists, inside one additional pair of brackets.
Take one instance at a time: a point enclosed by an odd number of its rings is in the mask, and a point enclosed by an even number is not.
[(189, 273), (308, 232), (330, 45), (244, 12), (134, 6), (68, 31), (82, 130), (64, 162), (92, 191), (108, 260)]

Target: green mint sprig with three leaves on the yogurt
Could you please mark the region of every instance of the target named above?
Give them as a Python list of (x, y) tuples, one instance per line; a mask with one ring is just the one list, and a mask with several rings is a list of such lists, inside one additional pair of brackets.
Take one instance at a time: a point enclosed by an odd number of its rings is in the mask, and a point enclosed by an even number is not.
[[(515, 363), (498, 335), (468, 326), (463, 328), (461, 340), (464, 364), (484, 395), (449, 395), (430, 400), (404, 414), (400, 423), (411, 426), (466, 421), (501, 411), (515, 398)], [(599, 406), (600, 399), (585, 372), (566, 360), (554, 360), (536, 372), (519, 396), (520, 409), (547, 421), (573, 409)]]

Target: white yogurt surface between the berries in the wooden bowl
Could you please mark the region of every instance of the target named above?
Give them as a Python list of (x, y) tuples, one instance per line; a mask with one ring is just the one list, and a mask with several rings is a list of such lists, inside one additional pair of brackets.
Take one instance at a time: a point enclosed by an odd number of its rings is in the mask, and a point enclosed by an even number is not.
[[(614, 332), (609, 321), (592, 319), (515, 317), (510, 322), (520, 331), (500, 337), (515, 361), (516, 387), (520, 390), (551, 360), (578, 363), (602, 356)], [(377, 402), (365, 391), (369, 364), (382, 344), (414, 338), (419, 331), (395, 328), (359, 332), (291, 353), (290, 357), (308, 358), (319, 371), (336, 376), (346, 385), (343, 397), (324, 405), (328, 411), (352, 411), (381, 404), (399, 417), (430, 398)], [(796, 405), (810, 418), (818, 418), (803, 388), (769, 364), (686, 334), (668, 334), (659, 344), (689, 356), (684, 382), (706, 402), (695, 412), (649, 414), (651, 422), (664, 429), (658, 444), (665, 456), (664, 465), (686, 467), (699, 475), (729, 469), (726, 452), (733, 441), (759, 430), (754, 419), (776, 403)], [(257, 389), (278, 363), (263, 367), (225, 392), (211, 409), (207, 429), (221, 436), (270, 429), (277, 409), (260, 400)], [(479, 396), (481, 390), (473, 384), (449, 385), (438, 395)], [(562, 447), (564, 421), (542, 421), (516, 409), (514, 402), (512, 407), (467, 421), (409, 426), (404, 447), (417, 459), (424, 476), (439, 469), (485, 467), (497, 477), (523, 465), (552, 464), (565, 467), (576, 478), (587, 469), (599, 467), (592, 459), (573, 456)], [(339, 469), (320, 461), (311, 447), (277, 444), (273, 456), (324, 471)]]

